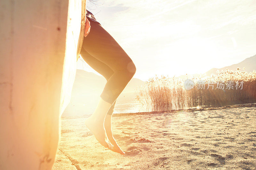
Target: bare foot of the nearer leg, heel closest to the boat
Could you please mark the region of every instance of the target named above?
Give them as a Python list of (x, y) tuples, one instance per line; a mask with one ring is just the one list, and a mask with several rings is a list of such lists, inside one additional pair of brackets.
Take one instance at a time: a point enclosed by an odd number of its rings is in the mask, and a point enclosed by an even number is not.
[(110, 150), (113, 149), (114, 146), (108, 140), (108, 136), (104, 128), (104, 122), (99, 121), (98, 119), (95, 119), (92, 116), (90, 116), (85, 120), (85, 125), (88, 129), (92, 131), (96, 140), (99, 141), (101, 145), (105, 146)]

